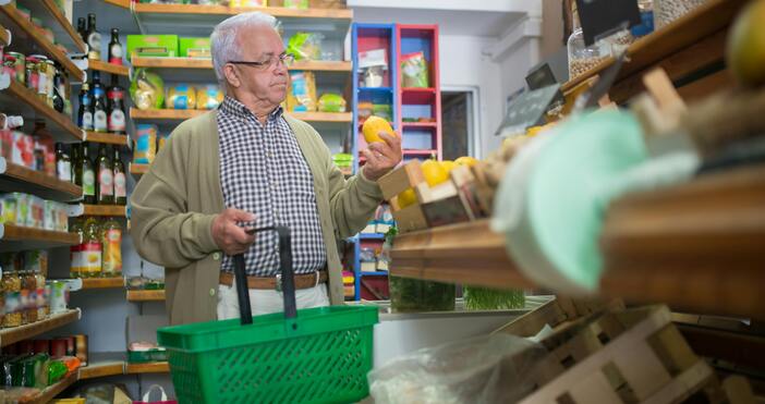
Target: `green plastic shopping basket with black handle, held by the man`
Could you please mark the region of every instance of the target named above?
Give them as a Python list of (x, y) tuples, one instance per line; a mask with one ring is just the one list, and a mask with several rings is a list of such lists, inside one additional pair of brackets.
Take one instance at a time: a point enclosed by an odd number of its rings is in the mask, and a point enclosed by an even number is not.
[(234, 257), (240, 320), (157, 330), (180, 403), (349, 403), (369, 393), (372, 306), (296, 310), (290, 231), (279, 234), (284, 313), (252, 317), (244, 257)]

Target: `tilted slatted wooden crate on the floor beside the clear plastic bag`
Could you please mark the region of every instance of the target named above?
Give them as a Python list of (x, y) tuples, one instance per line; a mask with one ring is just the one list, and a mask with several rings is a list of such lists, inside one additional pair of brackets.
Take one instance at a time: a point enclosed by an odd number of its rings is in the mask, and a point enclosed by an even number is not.
[[(678, 403), (718, 385), (666, 306), (621, 310), (570, 302), (550, 302), (498, 330), (523, 336), (539, 323), (557, 326), (541, 341), (549, 355), (533, 375), (539, 388), (520, 403)], [(587, 310), (593, 314), (570, 321)]]

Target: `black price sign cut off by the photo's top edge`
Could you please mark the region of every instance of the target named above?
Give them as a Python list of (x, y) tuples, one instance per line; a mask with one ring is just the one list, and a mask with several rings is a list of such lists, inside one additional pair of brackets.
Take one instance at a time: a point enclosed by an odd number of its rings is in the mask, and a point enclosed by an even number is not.
[(576, 0), (576, 11), (586, 46), (641, 24), (638, 0)]

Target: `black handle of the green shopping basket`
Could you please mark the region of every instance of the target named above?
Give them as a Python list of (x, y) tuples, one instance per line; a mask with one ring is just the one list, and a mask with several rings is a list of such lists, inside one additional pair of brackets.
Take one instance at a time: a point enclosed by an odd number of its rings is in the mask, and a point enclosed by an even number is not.
[[(255, 234), (265, 231), (276, 231), (279, 235), (279, 272), (281, 276), (281, 290), (284, 297), (284, 318), (295, 318), (298, 317), (298, 304), (295, 302), (295, 278), (292, 269), (292, 237), (290, 235), (290, 229), (286, 227), (268, 227), (251, 229), (247, 230), (247, 233)], [(252, 325), (253, 314), (250, 308), (250, 291), (247, 289), (247, 277), (244, 269), (244, 255), (235, 255), (233, 261), (240, 321), (242, 326)]]

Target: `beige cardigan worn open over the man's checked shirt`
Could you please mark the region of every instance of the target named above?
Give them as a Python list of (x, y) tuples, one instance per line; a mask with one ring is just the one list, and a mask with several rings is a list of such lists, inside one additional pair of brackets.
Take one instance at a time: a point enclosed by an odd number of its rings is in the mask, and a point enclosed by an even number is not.
[[(138, 254), (166, 268), (166, 308), (172, 325), (216, 319), (222, 253), (211, 224), (226, 208), (216, 113), (178, 125), (131, 196), (130, 232)], [(284, 117), (314, 176), (329, 296), (339, 305), (343, 284), (337, 242), (366, 225), (382, 195), (363, 175), (345, 181), (319, 134), (307, 123)]]

